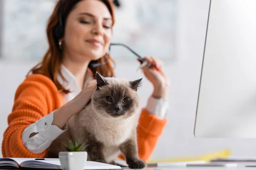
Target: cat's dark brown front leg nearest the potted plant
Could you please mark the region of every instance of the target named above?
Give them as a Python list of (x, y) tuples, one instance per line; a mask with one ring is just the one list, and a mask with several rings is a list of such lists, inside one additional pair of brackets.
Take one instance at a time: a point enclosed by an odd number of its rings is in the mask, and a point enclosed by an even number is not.
[(86, 151), (90, 161), (107, 163), (103, 154), (103, 144), (97, 141), (92, 134), (85, 134), (84, 137), (86, 138)]

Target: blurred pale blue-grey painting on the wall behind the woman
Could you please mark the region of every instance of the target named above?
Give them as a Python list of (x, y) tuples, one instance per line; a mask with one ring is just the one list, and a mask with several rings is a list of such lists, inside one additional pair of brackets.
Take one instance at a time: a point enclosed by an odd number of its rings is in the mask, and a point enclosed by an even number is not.
[[(0, 1), (2, 59), (40, 60), (48, 48), (47, 20), (58, 0)], [(124, 43), (142, 56), (174, 59), (177, 0), (114, 1), (112, 42)], [(134, 59), (134, 54), (119, 46), (111, 47), (111, 56), (115, 60)]]

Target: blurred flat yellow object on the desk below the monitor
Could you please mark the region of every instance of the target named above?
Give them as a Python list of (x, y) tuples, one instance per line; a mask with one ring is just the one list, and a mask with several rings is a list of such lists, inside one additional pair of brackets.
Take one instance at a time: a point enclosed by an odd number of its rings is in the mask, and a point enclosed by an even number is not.
[(181, 162), (181, 161), (210, 161), (217, 158), (227, 158), (230, 156), (230, 150), (221, 150), (212, 153), (207, 153), (203, 156), (187, 157), (187, 158), (170, 158), (162, 160), (149, 160), (148, 164), (160, 162)]

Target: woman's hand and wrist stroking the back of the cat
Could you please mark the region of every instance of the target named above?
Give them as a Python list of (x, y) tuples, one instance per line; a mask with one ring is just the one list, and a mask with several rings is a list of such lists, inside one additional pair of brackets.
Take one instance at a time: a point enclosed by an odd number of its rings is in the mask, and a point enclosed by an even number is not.
[(61, 108), (54, 112), (52, 125), (58, 126), (60, 129), (67, 124), (68, 120), (76, 113), (81, 111), (89, 102), (93, 92), (96, 89), (97, 82), (92, 80), (87, 86), (72, 100), (67, 102)]

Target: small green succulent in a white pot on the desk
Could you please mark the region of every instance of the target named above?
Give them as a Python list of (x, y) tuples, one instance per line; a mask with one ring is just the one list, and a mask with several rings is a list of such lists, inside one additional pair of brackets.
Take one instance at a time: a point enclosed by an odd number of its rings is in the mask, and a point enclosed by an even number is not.
[(87, 161), (87, 152), (82, 151), (86, 147), (84, 143), (68, 139), (68, 146), (64, 145), (67, 152), (59, 152), (62, 170), (84, 170)]

